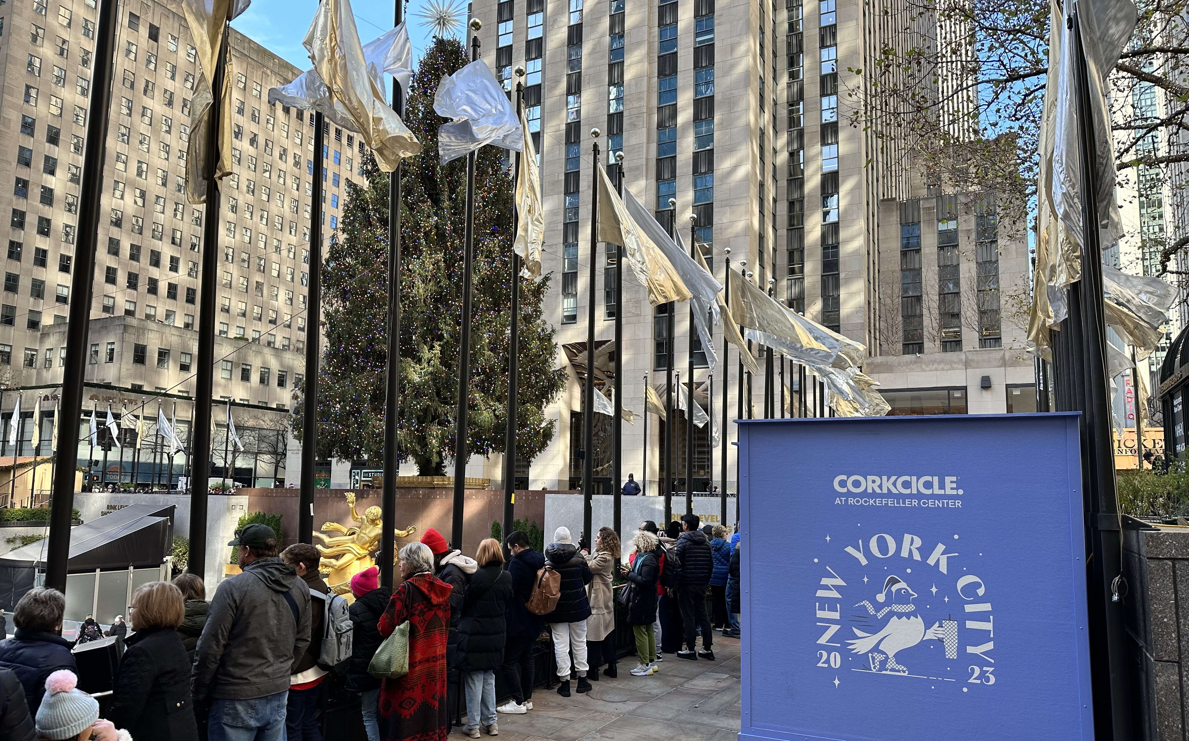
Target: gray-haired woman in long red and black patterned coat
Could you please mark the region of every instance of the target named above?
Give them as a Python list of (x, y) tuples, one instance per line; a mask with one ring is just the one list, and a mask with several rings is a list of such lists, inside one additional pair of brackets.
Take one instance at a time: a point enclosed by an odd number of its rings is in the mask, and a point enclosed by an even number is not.
[(404, 582), (392, 591), (378, 628), (388, 638), (409, 621), (409, 673), (380, 684), (379, 735), (384, 741), (445, 741), (451, 585), (434, 576), (434, 555), (424, 544), (410, 542), (398, 558)]

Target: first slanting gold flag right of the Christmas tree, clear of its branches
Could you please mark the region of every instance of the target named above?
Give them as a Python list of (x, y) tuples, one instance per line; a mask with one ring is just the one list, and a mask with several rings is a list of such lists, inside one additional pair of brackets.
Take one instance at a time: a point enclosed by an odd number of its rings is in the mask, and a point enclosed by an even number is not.
[(661, 249), (644, 234), (628, 214), (606, 171), (598, 170), (598, 240), (623, 245), (628, 266), (636, 280), (648, 288), (648, 302), (660, 306), (669, 301), (687, 301), (690, 289)]

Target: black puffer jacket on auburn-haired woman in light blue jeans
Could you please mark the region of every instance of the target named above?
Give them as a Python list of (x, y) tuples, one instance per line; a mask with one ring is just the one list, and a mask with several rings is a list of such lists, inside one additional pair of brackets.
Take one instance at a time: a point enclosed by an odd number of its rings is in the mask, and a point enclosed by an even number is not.
[(471, 574), (463, 618), (458, 621), (459, 670), (482, 672), (504, 662), (505, 616), (512, 596), (512, 578), (499, 561)]

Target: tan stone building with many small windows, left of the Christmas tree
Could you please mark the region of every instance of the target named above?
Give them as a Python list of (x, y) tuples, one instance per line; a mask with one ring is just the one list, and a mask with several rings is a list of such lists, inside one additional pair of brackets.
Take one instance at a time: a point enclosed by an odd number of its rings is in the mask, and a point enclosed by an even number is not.
[[(180, 7), (141, 1), (120, 8), (113, 109), (103, 177), (105, 215), (94, 277), (84, 420), (111, 406), (144, 414), (150, 438), (139, 452), (125, 429), (124, 447), (105, 431), (93, 448), (83, 421), (80, 465), (102, 481), (164, 484), (183, 473), (187, 456), (171, 456), (155, 435), (158, 406), (172, 419), (176, 403), (188, 438), (197, 351), (199, 264), (203, 206), (187, 202), (184, 174), (190, 105), (199, 74)], [(23, 394), (19, 450), (8, 445), (17, 394), (0, 400), (5, 432), (0, 459), (49, 454), (51, 414), (32, 439), (33, 397), (54, 409), (65, 362), (65, 304), (77, 234), (84, 123), (95, 37), (94, 0), (21, 0), (0, 5), (0, 209), (8, 215), (5, 284), (0, 296), (0, 379)], [(232, 175), (224, 181), (219, 251), (219, 312), (214, 395), (240, 408), (247, 450), (233, 463), (246, 484), (285, 481), (288, 409), (304, 375), (309, 226), (314, 177), (313, 118), (270, 106), (268, 89), (301, 70), (243, 34), (231, 32), (234, 77)], [(363, 143), (335, 126), (323, 143), (325, 230), (338, 225), (346, 183)], [(10, 183), (12, 186), (10, 187)], [(215, 476), (224, 470), (221, 417), (215, 414)], [(69, 433), (67, 433), (69, 434)], [(168, 463), (172, 460), (172, 466)], [(231, 466), (228, 466), (231, 467)], [(107, 472), (101, 472), (105, 469)], [(122, 471), (122, 472), (121, 472)], [(229, 472), (228, 472), (229, 473)]]

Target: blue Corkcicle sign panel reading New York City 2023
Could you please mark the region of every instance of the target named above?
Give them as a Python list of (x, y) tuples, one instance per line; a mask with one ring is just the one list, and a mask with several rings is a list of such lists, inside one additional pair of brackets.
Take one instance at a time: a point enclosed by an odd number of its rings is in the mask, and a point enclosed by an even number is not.
[(741, 740), (1094, 737), (1076, 414), (740, 431)]

